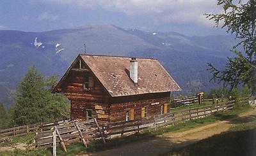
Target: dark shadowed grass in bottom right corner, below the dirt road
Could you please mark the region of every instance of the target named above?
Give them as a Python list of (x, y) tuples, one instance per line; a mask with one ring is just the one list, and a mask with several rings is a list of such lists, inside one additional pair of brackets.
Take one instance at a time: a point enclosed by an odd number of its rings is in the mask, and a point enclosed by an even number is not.
[(256, 129), (224, 132), (163, 155), (256, 155)]

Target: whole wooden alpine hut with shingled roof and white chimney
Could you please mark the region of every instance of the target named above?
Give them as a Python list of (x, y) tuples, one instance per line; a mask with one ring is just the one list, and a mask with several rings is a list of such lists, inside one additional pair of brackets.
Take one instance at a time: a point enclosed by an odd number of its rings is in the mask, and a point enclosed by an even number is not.
[(128, 121), (168, 113), (179, 85), (156, 59), (80, 54), (54, 88), (71, 119)]

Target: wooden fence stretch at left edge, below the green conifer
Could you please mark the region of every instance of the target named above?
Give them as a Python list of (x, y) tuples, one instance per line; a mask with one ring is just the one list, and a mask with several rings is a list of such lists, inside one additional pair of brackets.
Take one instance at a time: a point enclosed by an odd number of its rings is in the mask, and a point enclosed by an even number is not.
[(29, 134), (30, 132), (44, 131), (45, 129), (51, 128), (53, 125), (58, 125), (67, 121), (68, 120), (59, 120), (56, 122), (41, 122), (41, 123), (36, 123), (31, 125), (21, 125), (21, 126), (12, 127), (9, 129), (1, 129), (0, 138), (1, 139), (13, 138), (16, 136), (24, 136), (26, 134)]

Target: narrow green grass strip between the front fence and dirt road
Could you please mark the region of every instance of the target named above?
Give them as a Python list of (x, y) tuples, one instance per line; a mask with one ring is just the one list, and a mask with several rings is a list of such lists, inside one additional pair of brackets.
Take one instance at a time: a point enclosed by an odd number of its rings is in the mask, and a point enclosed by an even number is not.
[(58, 148), (57, 153), (60, 155), (76, 155), (77, 153), (83, 152), (99, 152), (102, 150), (107, 150), (111, 148), (116, 148), (118, 146), (126, 145), (128, 143), (134, 143), (141, 140), (145, 141), (147, 139), (154, 138), (166, 132), (182, 132), (202, 125), (211, 124), (218, 120), (228, 120), (237, 117), (240, 113), (243, 113), (244, 111), (250, 109), (252, 109), (252, 107), (248, 105), (236, 106), (236, 109), (227, 111), (225, 113), (218, 113), (216, 115), (211, 115), (205, 118), (190, 120), (188, 122), (176, 124), (174, 126), (170, 125), (168, 127), (159, 127), (156, 130), (149, 129), (140, 132), (140, 134), (132, 134), (129, 136), (124, 136), (122, 138), (107, 139), (106, 145), (103, 145), (102, 140), (91, 141), (88, 145), (88, 148), (85, 148), (82, 143), (68, 145), (67, 153), (63, 152), (61, 148)]

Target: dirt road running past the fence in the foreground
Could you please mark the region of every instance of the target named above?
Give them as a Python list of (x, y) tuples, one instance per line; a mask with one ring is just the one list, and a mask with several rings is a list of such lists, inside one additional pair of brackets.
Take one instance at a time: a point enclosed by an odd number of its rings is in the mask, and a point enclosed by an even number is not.
[(215, 122), (202, 127), (196, 127), (189, 131), (169, 132), (147, 141), (130, 143), (128, 145), (116, 147), (115, 149), (82, 155), (159, 155), (161, 153), (169, 152), (174, 147), (186, 146), (201, 139), (209, 138), (214, 134), (228, 131), (234, 124), (255, 120), (255, 115), (256, 110), (250, 110), (239, 115), (239, 117)]

